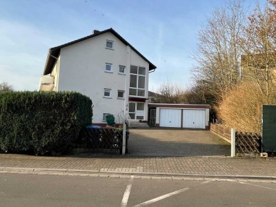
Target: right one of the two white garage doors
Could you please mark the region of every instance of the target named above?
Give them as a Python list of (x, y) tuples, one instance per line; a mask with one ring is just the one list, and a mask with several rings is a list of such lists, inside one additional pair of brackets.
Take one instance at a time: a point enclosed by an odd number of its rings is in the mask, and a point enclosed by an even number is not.
[(205, 129), (205, 110), (183, 110), (183, 128)]

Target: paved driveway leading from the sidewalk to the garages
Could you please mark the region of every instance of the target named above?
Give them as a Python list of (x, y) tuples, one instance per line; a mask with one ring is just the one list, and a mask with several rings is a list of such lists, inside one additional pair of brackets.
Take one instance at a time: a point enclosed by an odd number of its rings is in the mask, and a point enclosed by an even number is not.
[(229, 156), (230, 144), (207, 130), (130, 129), (128, 156)]

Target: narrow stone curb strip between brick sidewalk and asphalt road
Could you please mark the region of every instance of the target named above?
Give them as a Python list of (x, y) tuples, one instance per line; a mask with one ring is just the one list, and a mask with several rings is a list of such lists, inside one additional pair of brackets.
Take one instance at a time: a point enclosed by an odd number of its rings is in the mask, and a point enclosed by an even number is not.
[(276, 180), (276, 176), (262, 175), (202, 175), (202, 174), (184, 174), (170, 172), (121, 172), (104, 170), (80, 170), (80, 169), (55, 169), (55, 168), (10, 168), (0, 167), (0, 171), (6, 172), (57, 172), (70, 174), (99, 174), (99, 175), (136, 175), (136, 176), (154, 176), (154, 177), (195, 177), (195, 178), (217, 178), (217, 179), (269, 179)]

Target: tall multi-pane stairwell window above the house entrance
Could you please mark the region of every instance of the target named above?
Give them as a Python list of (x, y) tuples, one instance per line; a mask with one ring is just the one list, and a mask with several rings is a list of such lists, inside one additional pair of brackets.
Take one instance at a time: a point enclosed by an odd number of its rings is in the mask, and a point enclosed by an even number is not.
[(146, 68), (130, 66), (130, 90), (129, 95), (134, 97), (145, 97)]

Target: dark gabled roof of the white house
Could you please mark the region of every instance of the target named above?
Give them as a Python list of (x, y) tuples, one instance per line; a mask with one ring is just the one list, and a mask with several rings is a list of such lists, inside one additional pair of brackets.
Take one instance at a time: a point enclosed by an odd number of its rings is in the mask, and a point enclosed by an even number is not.
[(65, 47), (70, 46), (72, 44), (78, 43), (79, 41), (83, 41), (83, 40), (86, 40), (86, 39), (90, 39), (92, 37), (96, 37), (96, 36), (104, 34), (106, 32), (111, 32), (112, 34), (115, 35), (115, 37), (117, 37), (119, 40), (121, 40), (126, 46), (130, 46), (130, 48), (132, 48), (132, 50), (134, 50), (135, 52), (137, 52), (137, 54), (139, 56), (141, 56), (141, 58), (143, 58), (145, 61), (147, 61), (149, 63), (149, 70), (154, 70), (156, 68), (155, 65), (153, 65), (150, 61), (148, 61), (148, 59), (146, 59), (146, 57), (144, 57), (144, 55), (141, 55), (140, 52), (138, 52), (132, 45), (130, 45), (130, 43), (128, 43), (128, 41), (126, 41), (126, 39), (124, 39), (123, 37), (121, 37), (120, 34), (118, 34), (117, 32), (115, 32), (115, 30), (113, 30), (112, 28), (110, 28), (110, 29), (107, 29), (107, 30), (103, 30), (101, 32), (95, 32), (94, 34), (91, 34), (91, 35), (89, 35), (87, 37), (83, 37), (81, 39), (77, 39), (75, 41), (70, 41), (70, 42), (65, 43), (65, 44), (63, 44), (61, 46), (57, 46), (55, 48), (50, 48), (49, 52), (48, 52), (47, 59), (46, 59), (43, 75), (48, 75), (48, 74), (50, 74), (50, 72), (52, 72), (52, 68), (54, 67), (55, 61), (56, 61), (55, 57), (59, 56), (61, 48), (65, 48)]

